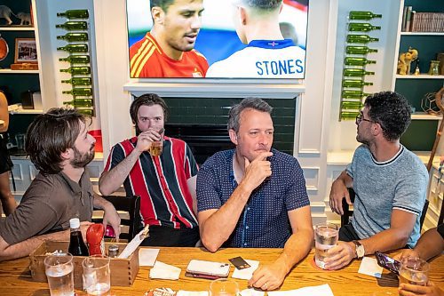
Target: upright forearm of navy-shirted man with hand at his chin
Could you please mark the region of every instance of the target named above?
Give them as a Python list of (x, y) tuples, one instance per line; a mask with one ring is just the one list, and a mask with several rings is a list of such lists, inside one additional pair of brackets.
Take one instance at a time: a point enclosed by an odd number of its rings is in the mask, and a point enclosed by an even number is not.
[(226, 204), (200, 225), (202, 244), (210, 252), (218, 251), (218, 248), (231, 236), (250, 195), (250, 191), (242, 185), (238, 186)]

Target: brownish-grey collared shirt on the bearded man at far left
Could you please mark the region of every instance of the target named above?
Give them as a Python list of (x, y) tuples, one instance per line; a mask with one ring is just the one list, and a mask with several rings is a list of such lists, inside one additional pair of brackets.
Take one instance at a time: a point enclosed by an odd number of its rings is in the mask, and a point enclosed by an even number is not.
[(71, 218), (91, 221), (93, 199), (88, 172), (83, 172), (79, 183), (63, 172), (39, 172), (17, 209), (0, 224), (0, 236), (8, 244), (17, 244), (32, 236), (67, 229)]

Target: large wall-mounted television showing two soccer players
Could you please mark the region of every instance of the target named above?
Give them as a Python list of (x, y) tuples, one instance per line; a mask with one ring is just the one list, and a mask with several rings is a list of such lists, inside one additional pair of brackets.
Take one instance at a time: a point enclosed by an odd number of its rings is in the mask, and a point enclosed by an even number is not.
[(126, 3), (131, 78), (305, 77), (308, 0)]

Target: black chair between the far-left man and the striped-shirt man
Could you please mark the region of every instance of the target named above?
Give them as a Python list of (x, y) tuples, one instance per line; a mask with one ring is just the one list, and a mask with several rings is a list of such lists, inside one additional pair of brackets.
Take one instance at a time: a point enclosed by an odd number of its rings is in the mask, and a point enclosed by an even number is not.
[[(142, 227), (140, 218), (140, 196), (102, 196), (115, 206), (119, 212), (128, 212), (129, 219), (121, 219), (121, 225), (128, 227), (128, 233), (121, 233), (119, 238), (131, 241)], [(103, 219), (92, 219), (94, 223), (101, 223)]]

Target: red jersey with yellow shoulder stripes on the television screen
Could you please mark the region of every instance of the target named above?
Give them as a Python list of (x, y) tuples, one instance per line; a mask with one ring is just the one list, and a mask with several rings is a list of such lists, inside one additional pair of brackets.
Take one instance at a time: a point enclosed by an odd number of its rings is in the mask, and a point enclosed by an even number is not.
[(196, 50), (184, 52), (181, 60), (170, 59), (149, 32), (130, 48), (131, 78), (203, 77), (207, 69), (207, 59)]

